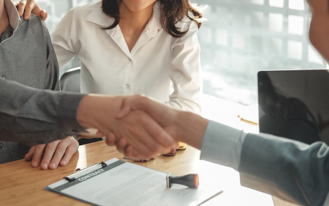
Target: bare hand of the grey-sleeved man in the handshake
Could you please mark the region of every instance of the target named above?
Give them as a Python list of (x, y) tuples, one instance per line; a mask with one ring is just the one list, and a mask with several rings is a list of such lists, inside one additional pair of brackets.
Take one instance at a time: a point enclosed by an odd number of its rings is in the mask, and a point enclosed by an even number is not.
[[(107, 142), (125, 139), (140, 158), (148, 159), (166, 153), (178, 142), (142, 111), (132, 111), (116, 119), (123, 97), (85, 96), (77, 111), (77, 120), (84, 128), (96, 128), (107, 136)], [(114, 135), (115, 134), (115, 138)]]

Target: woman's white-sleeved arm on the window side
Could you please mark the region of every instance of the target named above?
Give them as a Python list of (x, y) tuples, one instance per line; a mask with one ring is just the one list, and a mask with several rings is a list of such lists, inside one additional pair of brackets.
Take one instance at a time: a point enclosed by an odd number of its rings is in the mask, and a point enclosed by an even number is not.
[(202, 76), (200, 63), (200, 45), (196, 33), (198, 27), (190, 21), (188, 33), (181, 38), (173, 38), (171, 52), (173, 59), (169, 77), (174, 85), (174, 92), (169, 96), (170, 105), (174, 108), (200, 113), (199, 98), (202, 94)]

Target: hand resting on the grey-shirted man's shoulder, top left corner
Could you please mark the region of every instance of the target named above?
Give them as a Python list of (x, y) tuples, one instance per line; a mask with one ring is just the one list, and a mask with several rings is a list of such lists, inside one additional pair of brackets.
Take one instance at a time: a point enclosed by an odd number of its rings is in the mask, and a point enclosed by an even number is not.
[(16, 7), (18, 6), (19, 16), (22, 16), (25, 10), (25, 20), (28, 20), (30, 18), (31, 13), (39, 16), (42, 21), (45, 21), (48, 17), (48, 12), (46, 10), (42, 10), (35, 0), (22, 0), (20, 2), (15, 1), (13, 3)]

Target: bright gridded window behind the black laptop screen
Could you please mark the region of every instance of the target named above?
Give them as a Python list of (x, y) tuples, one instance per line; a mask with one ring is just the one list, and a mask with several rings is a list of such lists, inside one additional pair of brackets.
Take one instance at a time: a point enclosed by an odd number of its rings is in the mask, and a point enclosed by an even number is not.
[(207, 4), (198, 33), (204, 93), (257, 103), (259, 70), (324, 69), (308, 40), (304, 0), (192, 0)]

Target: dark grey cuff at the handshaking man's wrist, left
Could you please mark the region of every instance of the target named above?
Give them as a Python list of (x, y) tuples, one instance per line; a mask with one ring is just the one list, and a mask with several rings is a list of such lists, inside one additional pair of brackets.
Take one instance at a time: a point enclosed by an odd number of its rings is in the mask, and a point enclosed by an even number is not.
[(61, 99), (58, 105), (58, 120), (61, 128), (67, 135), (74, 135), (86, 132), (77, 121), (77, 110), (84, 94), (61, 92)]

